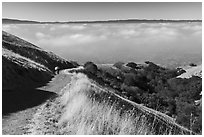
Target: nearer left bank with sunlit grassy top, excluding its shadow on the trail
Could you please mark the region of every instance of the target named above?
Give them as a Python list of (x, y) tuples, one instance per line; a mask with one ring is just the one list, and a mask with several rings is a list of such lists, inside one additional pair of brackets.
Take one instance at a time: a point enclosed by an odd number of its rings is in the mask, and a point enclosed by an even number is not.
[(2, 71), (3, 90), (40, 86), (52, 77), (51, 71), (43, 65), (5, 49)]

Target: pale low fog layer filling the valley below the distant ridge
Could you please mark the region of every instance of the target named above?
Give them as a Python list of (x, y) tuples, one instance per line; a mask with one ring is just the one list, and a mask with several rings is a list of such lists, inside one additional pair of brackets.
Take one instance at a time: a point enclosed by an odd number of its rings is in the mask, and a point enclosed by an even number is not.
[(3, 25), (3, 30), (79, 63), (201, 62), (201, 23)]

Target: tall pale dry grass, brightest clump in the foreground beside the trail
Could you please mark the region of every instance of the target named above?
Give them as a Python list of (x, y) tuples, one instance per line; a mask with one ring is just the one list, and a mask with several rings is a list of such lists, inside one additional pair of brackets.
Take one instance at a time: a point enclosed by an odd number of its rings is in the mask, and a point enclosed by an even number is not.
[(97, 102), (90, 98), (87, 92), (94, 89), (85, 75), (77, 74), (71, 83), (61, 97), (64, 106), (58, 122), (61, 134), (153, 134), (145, 116), (118, 110), (108, 100)]

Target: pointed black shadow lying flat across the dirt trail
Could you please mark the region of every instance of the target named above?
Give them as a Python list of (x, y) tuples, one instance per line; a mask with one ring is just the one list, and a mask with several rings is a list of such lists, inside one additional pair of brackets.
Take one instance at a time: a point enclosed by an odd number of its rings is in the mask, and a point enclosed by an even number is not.
[(3, 90), (2, 92), (2, 114), (25, 110), (42, 104), (48, 98), (57, 94), (35, 88)]

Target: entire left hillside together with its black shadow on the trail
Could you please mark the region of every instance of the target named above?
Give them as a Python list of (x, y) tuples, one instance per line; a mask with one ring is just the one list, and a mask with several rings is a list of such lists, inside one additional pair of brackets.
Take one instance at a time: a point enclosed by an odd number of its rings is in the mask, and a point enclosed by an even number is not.
[(55, 75), (54, 67), (74, 64), (23, 39), (2, 32), (3, 114), (42, 103), (52, 93), (37, 90)]

